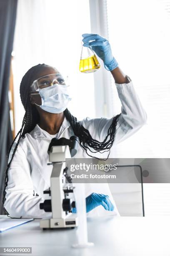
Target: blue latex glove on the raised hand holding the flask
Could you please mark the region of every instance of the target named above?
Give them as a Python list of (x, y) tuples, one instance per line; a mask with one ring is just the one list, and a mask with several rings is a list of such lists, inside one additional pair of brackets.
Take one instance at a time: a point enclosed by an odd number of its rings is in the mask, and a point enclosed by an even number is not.
[[(112, 56), (112, 50), (109, 41), (97, 34), (82, 34), (83, 46), (91, 47), (93, 51), (104, 62), (105, 69), (111, 71), (118, 67), (118, 63)], [(90, 42), (91, 40), (94, 40)]]

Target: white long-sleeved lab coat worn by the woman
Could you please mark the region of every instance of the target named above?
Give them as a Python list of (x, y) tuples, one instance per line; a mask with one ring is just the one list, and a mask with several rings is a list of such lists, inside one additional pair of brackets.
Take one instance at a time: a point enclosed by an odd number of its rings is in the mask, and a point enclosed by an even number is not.
[[(133, 83), (116, 84), (116, 87), (122, 108), (116, 126), (113, 147), (116, 143), (120, 143), (133, 135), (147, 120), (145, 110), (134, 90)], [(92, 138), (98, 141), (104, 140), (111, 122), (112, 119), (109, 118), (85, 118), (81, 121), (82, 125), (89, 130)], [(57, 133), (57, 138), (70, 138), (72, 135), (74, 133), (70, 123), (65, 118)], [(51, 212), (40, 210), (39, 204), (44, 202), (45, 199), (50, 199), (49, 195), (43, 194), (43, 191), (50, 187), (52, 165), (47, 165), (49, 162), (47, 149), (53, 137), (42, 130), (39, 125), (36, 125), (30, 133), (26, 133), (24, 138), (20, 140), (10, 169), (8, 170), (7, 194), (4, 204), (5, 209), (11, 217), (46, 218), (52, 216)], [(10, 152), (10, 158), (12, 152), (13, 148)], [(96, 156), (103, 158), (107, 154), (99, 155), (97, 153)], [(88, 157), (86, 152), (79, 147), (75, 158)], [(110, 155), (110, 157), (114, 156)], [(98, 206), (90, 211), (87, 214), (88, 216), (119, 215), (108, 184), (85, 184), (86, 196), (92, 192), (109, 195), (110, 200), (115, 206), (115, 210), (110, 212), (106, 211), (102, 206)]]

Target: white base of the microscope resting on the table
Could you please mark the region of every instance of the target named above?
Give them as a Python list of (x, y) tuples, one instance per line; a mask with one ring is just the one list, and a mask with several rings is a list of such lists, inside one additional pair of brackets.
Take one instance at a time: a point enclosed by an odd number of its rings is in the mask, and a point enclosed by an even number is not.
[(65, 218), (60, 219), (42, 219), (40, 220), (40, 228), (72, 228), (77, 227), (78, 219), (76, 214), (69, 214)]

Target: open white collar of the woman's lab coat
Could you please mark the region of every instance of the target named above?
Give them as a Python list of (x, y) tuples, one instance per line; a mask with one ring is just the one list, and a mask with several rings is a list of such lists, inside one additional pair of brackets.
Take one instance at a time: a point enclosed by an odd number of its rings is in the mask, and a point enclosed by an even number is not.
[[(64, 118), (62, 125), (60, 127), (60, 130), (58, 132), (58, 138), (60, 137), (60, 135), (67, 129), (70, 127), (70, 122), (66, 119), (66, 117)], [(47, 133), (47, 131), (44, 131), (43, 129), (40, 128), (40, 126), (38, 124), (35, 125), (35, 128), (32, 131), (32, 136), (36, 139), (50, 139), (51, 140), (51, 135), (49, 133)]]

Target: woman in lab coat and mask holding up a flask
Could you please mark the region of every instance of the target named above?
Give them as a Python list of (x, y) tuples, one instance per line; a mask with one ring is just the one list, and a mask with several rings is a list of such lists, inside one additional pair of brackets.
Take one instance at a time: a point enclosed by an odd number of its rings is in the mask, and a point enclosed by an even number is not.
[[(40, 210), (39, 205), (47, 199), (43, 191), (50, 187), (52, 166), (47, 165), (47, 148), (53, 137), (78, 136), (76, 158), (103, 158), (103, 152), (108, 158), (112, 146), (146, 123), (146, 113), (133, 84), (119, 69), (107, 39), (95, 34), (82, 36), (83, 46), (91, 46), (114, 77), (121, 114), (78, 122), (67, 109), (71, 98), (60, 72), (45, 64), (29, 69), (20, 84), (25, 115), (8, 154), (5, 179), (4, 210), (13, 218), (51, 217), (51, 212)], [(108, 184), (85, 184), (85, 189), (89, 215), (119, 215)]]

